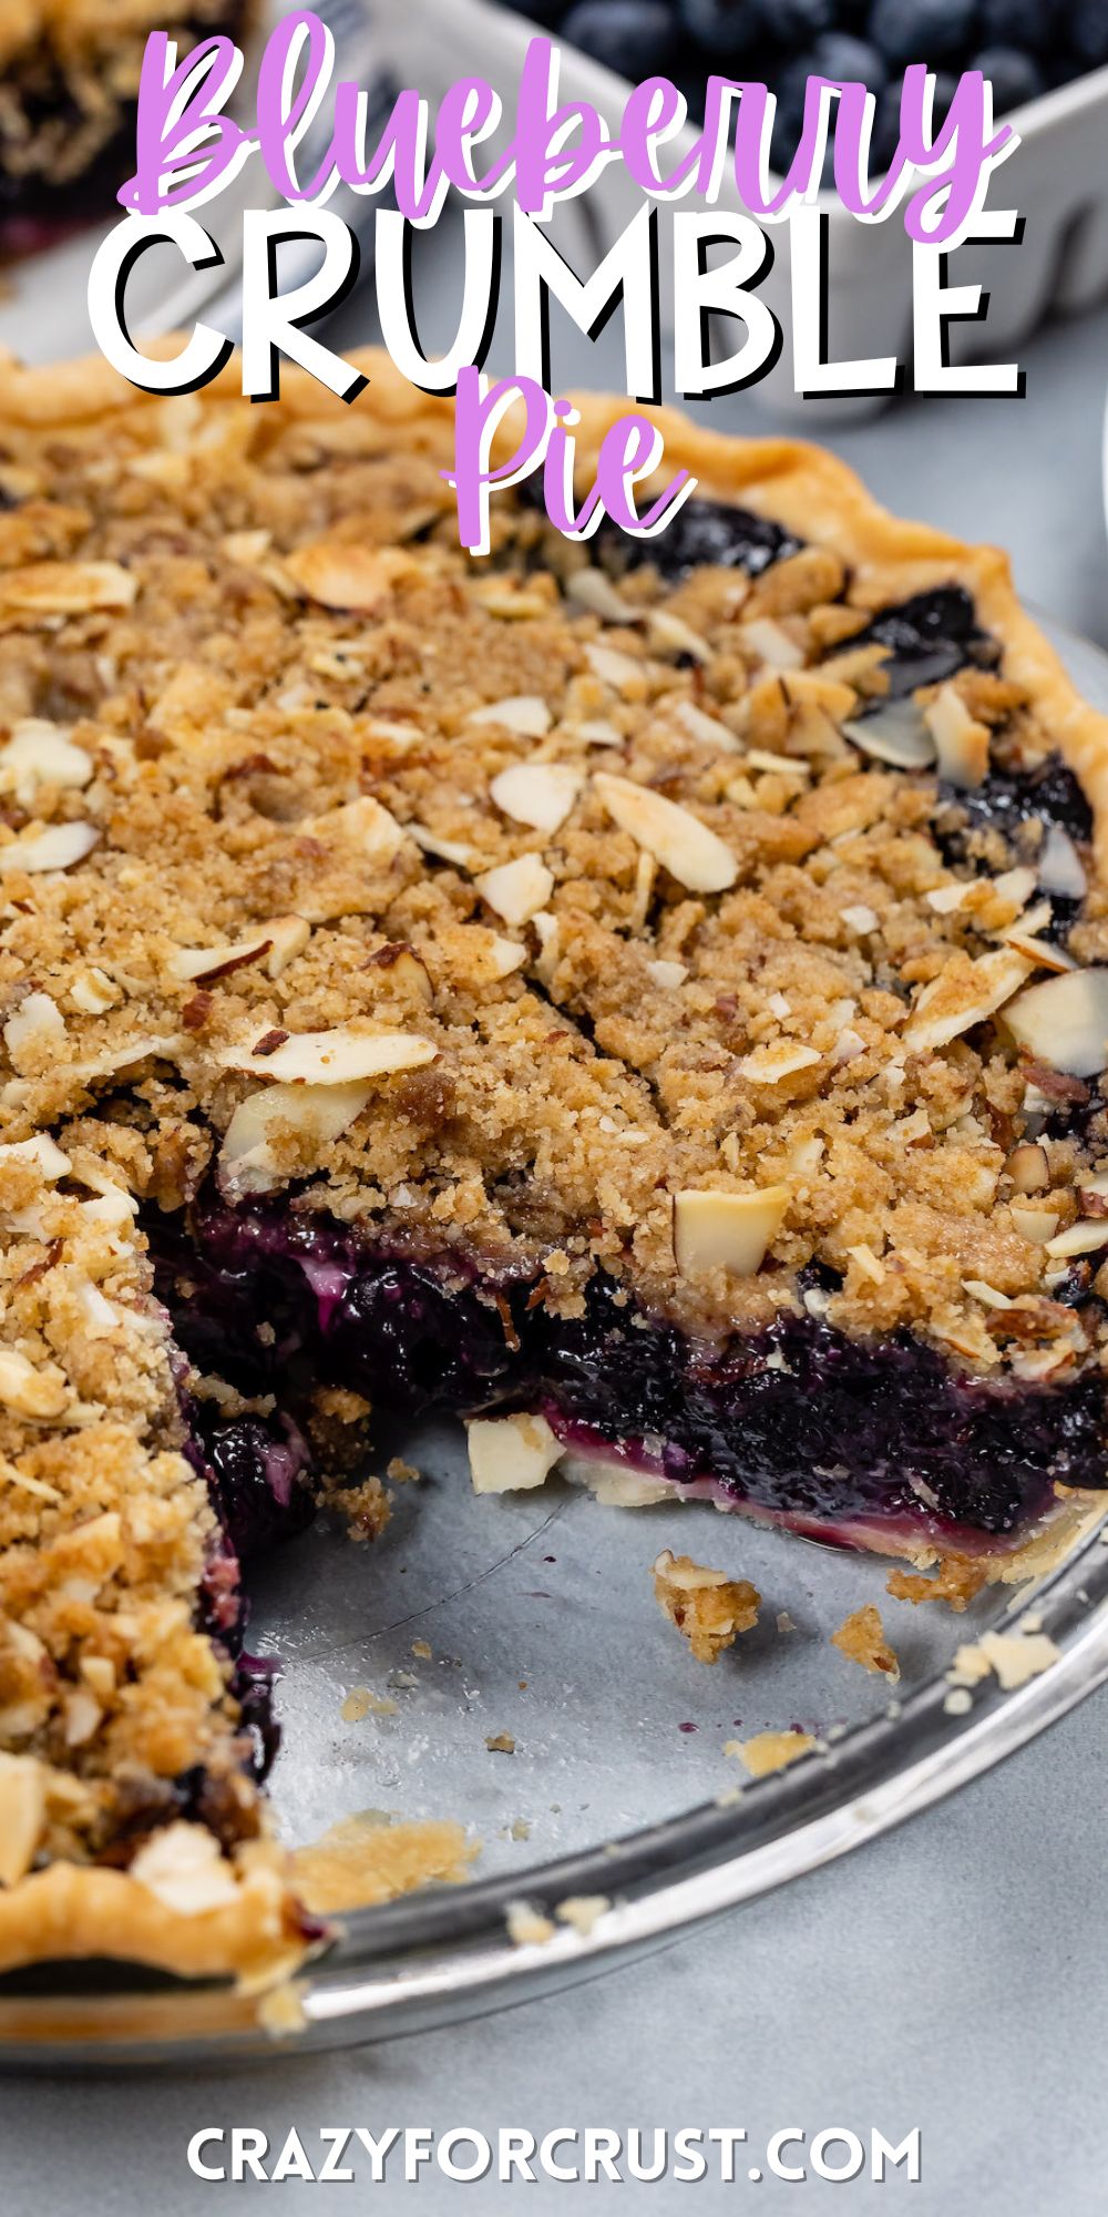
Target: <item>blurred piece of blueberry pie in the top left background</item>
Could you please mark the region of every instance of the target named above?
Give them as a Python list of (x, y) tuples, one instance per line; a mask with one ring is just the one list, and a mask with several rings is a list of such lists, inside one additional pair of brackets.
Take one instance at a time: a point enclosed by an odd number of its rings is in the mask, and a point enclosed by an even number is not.
[(131, 173), (142, 49), (242, 38), (253, 0), (2, 0), (0, 257), (111, 211)]

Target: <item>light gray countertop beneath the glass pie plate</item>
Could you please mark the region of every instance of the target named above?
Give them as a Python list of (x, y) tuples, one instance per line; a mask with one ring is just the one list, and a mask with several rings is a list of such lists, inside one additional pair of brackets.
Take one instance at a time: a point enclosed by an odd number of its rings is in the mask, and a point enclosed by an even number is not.
[[(357, 321), (355, 321), (357, 317)], [(346, 339), (366, 326), (346, 310)], [(1013, 554), (1024, 596), (1108, 643), (1101, 410), (1108, 313), (1024, 350), (1024, 401), (913, 401), (829, 443), (904, 514)], [(616, 386), (614, 333), (556, 355), (558, 377)], [(720, 430), (771, 428), (751, 397)], [(818, 435), (818, 426), (813, 426)], [(1101, 1876), (1108, 1696), (1002, 1771), (833, 1869), (625, 1971), (516, 2011), (397, 2042), (146, 2084), (2, 2084), (0, 2204), (51, 2210), (206, 2208), (186, 2168), (202, 2124), (922, 2128), (922, 2184), (853, 2184), (853, 2204), (909, 2197), (944, 2217), (1084, 2217), (1108, 2175), (1108, 1896)], [(317, 2142), (315, 2142), (317, 2146)], [(363, 2206), (368, 2182), (355, 2190)], [(809, 2193), (822, 2193), (809, 2182)], [(317, 2208), (288, 2184), (284, 2208)], [(379, 2186), (372, 2206), (408, 2188)], [(425, 2175), (414, 2208), (499, 2210), (512, 2188)], [(702, 2184), (694, 2208), (778, 2206), (762, 2179)], [(594, 2188), (594, 2201), (612, 2188)], [(530, 2210), (567, 2206), (552, 2182)], [(851, 2204), (851, 2206), (853, 2206)], [(346, 2204), (350, 2206), (350, 2201)], [(674, 2184), (652, 2208), (683, 2206)]]

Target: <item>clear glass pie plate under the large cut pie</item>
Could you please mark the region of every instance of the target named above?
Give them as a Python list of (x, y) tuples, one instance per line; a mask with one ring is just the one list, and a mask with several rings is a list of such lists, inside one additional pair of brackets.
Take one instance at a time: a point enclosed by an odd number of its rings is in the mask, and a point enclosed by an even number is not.
[[(1108, 656), (1048, 630), (1108, 709)], [(368, 1809), (459, 1818), (481, 1842), (474, 1876), (343, 1915), (299, 1973), (301, 2022), (279, 2042), (230, 1984), (64, 1964), (0, 1980), (0, 2064), (301, 2053), (594, 1978), (862, 1847), (1108, 1678), (1106, 1525), (1037, 1587), (993, 1587), (955, 1616), (889, 1601), (873, 1556), (709, 1503), (612, 1508), (556, 1474), (538, 1492), (476, 1496), (461, 1426), (406, 1428), (381, 1441), (377, 1468), (392, 1452), (421, 1481), (397, 1485), (381, 1541), (352, 1545), (319, 1523), (250, 1574), (250, 1652), (281, 1661), (273, 1798), (290, 1845)], [(663, 1547), (762, 1594), (758, 1627), (714, 1669), (656, 1607)], [(869, 1598), (900, 1654), (895, 1689), (829, 1645)], [(988, 1676), (951, 1700), (953, 1654), (986, 1627), (1044, 1632), (1057, 1656), (1013, 1692)], [(357, 1723), (343, 1716), (352, 1689), (375, 1696), (348, 1705), (368, 1709)], [(725, 1754), (787, 1727), (815, 1749), (784, 1771), (749, 1780)], [(589, 1911), (558, 1920), (581, 1898)], [(519, 1902), (547, 1911), (554, 1935), (516, 1944)]]

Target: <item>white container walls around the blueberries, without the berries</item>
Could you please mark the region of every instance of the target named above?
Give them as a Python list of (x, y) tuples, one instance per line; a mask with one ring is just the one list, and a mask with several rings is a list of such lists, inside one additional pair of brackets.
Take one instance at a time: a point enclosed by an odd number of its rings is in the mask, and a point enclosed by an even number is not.
[[(483, 75), (512, 100), (534, 24), (496, 0), (386, 0), (381, 24), (408, 84), (430, 98), (459, 75)], [(563, 47), (561, 95), (589, 100), (614, 120), (627, 84), (589, 55)], [(1026, 231), (1017, 246), (962, 246), (951, 284), (979, 284), (988, 293), (984, 324), (951, 326), (951, 359), (1017, 359), (1019, 344), (1048, 313), (1090, 308), (1108, 295), (1108, 69), (1090, 71), (1006, 118), (1019, 133), (1015, 155), (993, 177), (988, 204), (1019, 208)], [(674, 140), (674, 160), (696, 131)], [(558, 208), (558, 246), (585, 273), (640, 206), (638, 186), (612, 162), (581, 202)], [(694, 206), (685, 200), (683, 206)], [(740, 208), (731, 186), (720, 208)], [(829, 215), (829, 346), (831, 359), (900, 355), (911, 364), (911, 242), (900, 215), (858, 224), (822, 193)], [(663, 224), (665, 233), (665, 224)], [(773, 228), (773, 268), (762, 299), (791, 330), (789, 231)], [(663, 313), (669, 295), (663, 273)], [(733, 341), (731, 341), (733, 344)], [(880, 399), (818, 401), (793, 392), (791, 348), (753, 386), (765, 406), (813, 419), (866, 412)]]

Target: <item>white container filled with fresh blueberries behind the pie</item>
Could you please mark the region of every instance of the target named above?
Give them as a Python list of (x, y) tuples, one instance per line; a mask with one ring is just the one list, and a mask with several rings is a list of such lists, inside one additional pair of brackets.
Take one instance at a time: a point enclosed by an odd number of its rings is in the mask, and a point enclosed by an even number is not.
[[(408, 0), (394, 20), (414, 38), (417, 24), (434, 29), (434, 18), (439, 35), (419, 38), (419, 53), (406, 60), (423, 91), (443, 91), (463, 55), (465, 69), (481, 71), (510, 102), (527, 42), (545, 35), (561, 51), (561, 98), (592, 102), (601, 115), (618, 118), (632, 84), (669, 78), (687, 102), (674, 160), (685, 151), (683, 137), (691, 146), (700, 131), (707, 78), (762, 82), (776, 95), (778, 175), (796, 155), (811, 75), (862, 82), (873, 93), (878, 175), (897, 146), (904, 71), (917, 62), (933, 71), (933, 115), (942, 122), (960, 75), (979, 69), (993, 86), (993, 113), (1010, 120), (1019, 144), (988, 182), (979, 237), (948, 257), (948, 286), (982, 288), (979, 313), (948, 324), (951, 366), (1019, 359), (1019, 344), (1046, 315), (1108, 297), (1108, 0), (1066, 0), (1066, 7), (1053, 0), (450, 0), (450, 40), (441, 35), (443, 0)], [(913, 255), (904, 224), (900, 215), (858, 222), (829, 180), (827, 166), (818, 195), (827, 215), (827, 359), (895, 355), (911, 388)], [(581, 277), (589, 268), (583, 257), (596, 266), (638, 200), (614, 162), (583, 204), (558, 211), (570, 217), (576, 208), (576, 235), (558, 244)], [(725, 180), (716, 204), (740, 211), (733, 180)], [(1002, 211), (1024, 217), (1019, 244), (1010, 242), (1013, 222)], [(771, 246), (760, 295), (789, 333), (789, 224), (773, 228)], [(663, 237), (663, 315), (667, 290)], [(733, 344), (720, 337), (720, 348)], [(751, 397), (807, 421), (884, 406), (884, 395), (873, 392), (800, 395), (789, 344)]]

